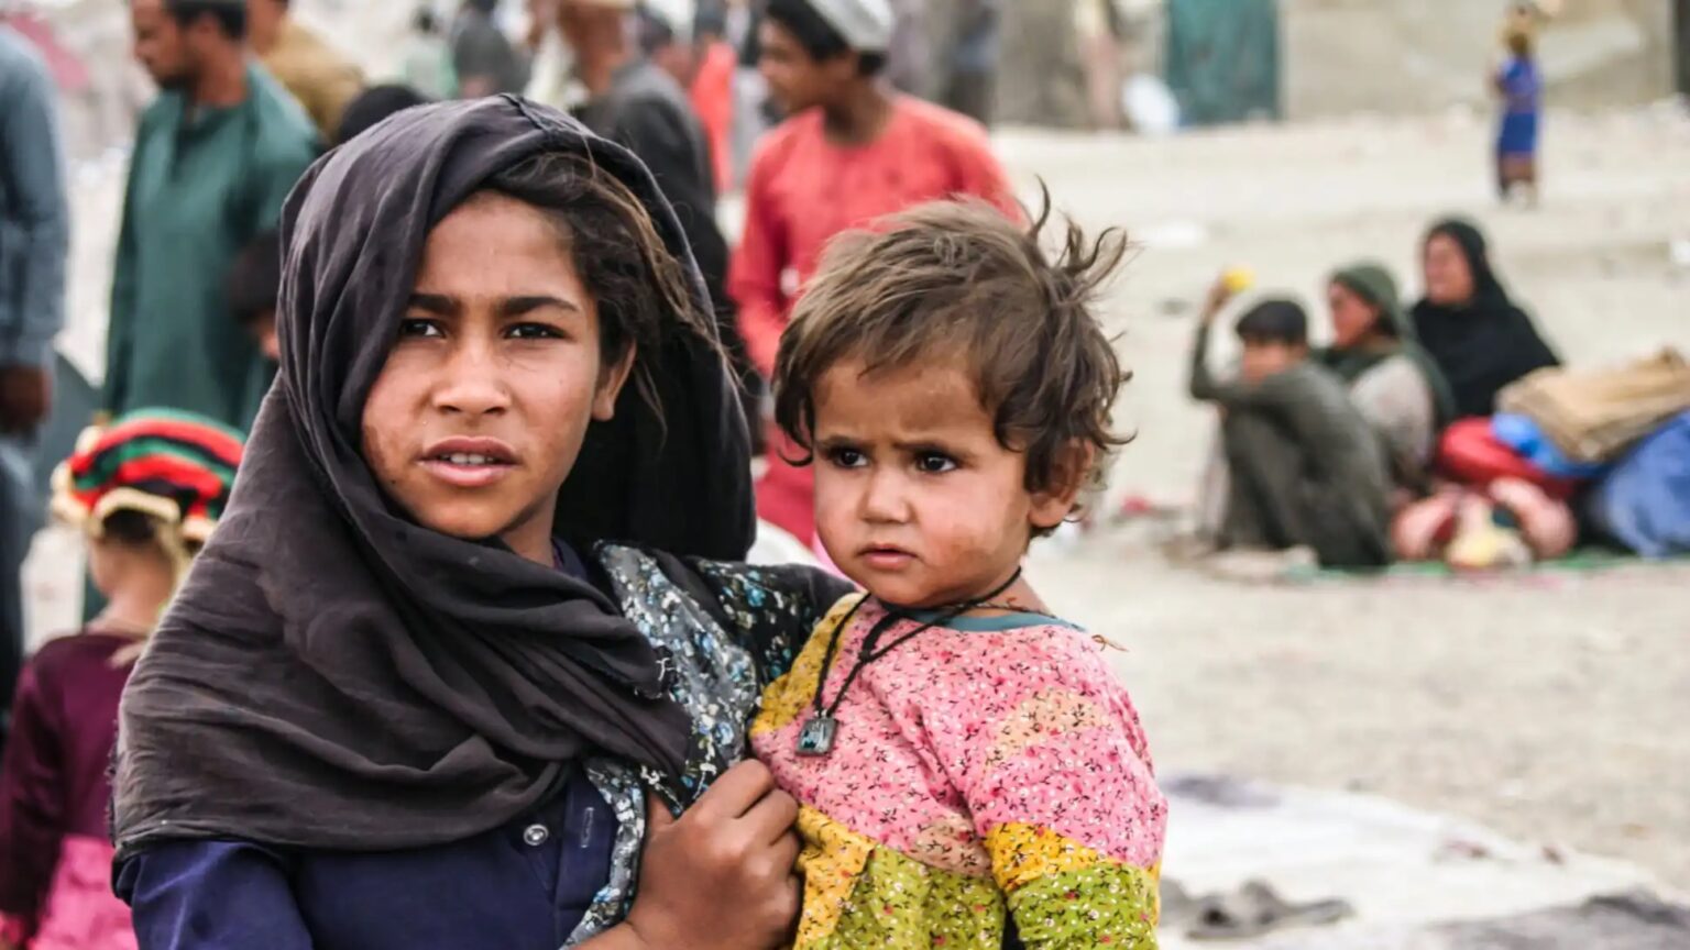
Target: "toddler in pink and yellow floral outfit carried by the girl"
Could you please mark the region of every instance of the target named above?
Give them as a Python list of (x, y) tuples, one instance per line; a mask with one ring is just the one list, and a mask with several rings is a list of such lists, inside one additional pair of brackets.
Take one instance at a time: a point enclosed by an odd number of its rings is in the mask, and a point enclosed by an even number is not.
[(837, 240), (776, 367), (816, 527), (867, 593), (764, 693), (801, 805), (794, 947), (1154, 948), (1166, 801), (1102, 646), (1021, 573), (1119, 445), (1092, 313), (1119, 233), (1060, 259), (975, 203)]

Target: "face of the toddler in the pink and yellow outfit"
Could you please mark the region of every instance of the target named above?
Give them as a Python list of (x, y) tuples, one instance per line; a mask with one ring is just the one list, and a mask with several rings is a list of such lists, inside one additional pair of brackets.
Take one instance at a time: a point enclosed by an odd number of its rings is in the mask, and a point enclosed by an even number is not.
[(1034, 527), (1073, 492), (1031, 494), (960, 363), (864, 377), (835, 365), (816, 387), (816, 531), (833, 563), (880, 600), (957, 603), (1006, 581)]

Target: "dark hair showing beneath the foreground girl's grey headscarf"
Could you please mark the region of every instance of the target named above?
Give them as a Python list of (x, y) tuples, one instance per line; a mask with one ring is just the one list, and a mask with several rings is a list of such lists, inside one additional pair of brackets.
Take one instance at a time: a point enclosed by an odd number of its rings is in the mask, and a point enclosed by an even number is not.
[[(586, 156), (546, 152), (487, 181), (487, 188), (546, 211), (598, 304), (605, 365), (629, 348), (656, 353), (668, 333), (715, 341), (715, 323), (693, 296), (686, 267), (669, 252), (646, 205)], [(725, 358), (725, 357), (723, 357)], [(641, 360), (634, 385), (652, 406), (657, 390)]]

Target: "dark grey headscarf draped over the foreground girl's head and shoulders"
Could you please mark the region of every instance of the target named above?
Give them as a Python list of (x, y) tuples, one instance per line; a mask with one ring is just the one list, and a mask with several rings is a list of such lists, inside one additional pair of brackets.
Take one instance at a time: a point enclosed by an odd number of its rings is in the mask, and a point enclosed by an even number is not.
[[(586, 752), (683, 766), (686, 713), (603, 593), (497, 541), (419, 527), (360, 455), (429, 230), (541, 152), (627, 184), (691, 269), (644, 166), (510, 96), (404, 112), (289, 198), (282, 372), (228, 514), (123, 696), (120, 859), (169, 838), (424, 847), (517, 818)], [(639, 355), (666, 416), (624, 392), (588, 433), (559, 532), (740, 560), (754, 521), (737, 396), (711, 341), (681, 321), (666, 336)]]

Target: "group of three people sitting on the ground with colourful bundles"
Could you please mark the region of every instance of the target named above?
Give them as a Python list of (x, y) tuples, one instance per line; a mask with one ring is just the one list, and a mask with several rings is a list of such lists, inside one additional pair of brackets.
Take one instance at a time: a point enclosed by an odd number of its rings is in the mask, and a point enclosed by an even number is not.
[(1330, 276), (1327, 347), (1310, 345), (1300, 301), (1252, 299), (1230, 377), (1208, 369), (1210, 326), (1252, 279), (1215, 282), (1190, 379), (1220, 424), (1181, 554), (1266, 580), (1396, 561), (1518, 568), (1580, 543), (1690, 551), (1683, 357), (1567, 367), (1477, 225), (1438, 221), (1420, 250), (1411, 306), (1377, 262)]

